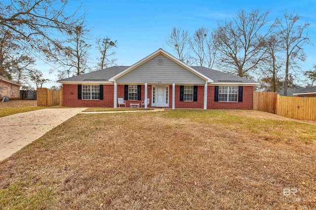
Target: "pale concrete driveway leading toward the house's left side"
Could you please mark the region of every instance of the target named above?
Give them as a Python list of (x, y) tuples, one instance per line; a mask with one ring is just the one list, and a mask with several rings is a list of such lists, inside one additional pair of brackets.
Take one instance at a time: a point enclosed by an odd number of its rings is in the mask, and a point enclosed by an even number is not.
[(0, 118), (0, 161), (85, 108), (45, 108)]

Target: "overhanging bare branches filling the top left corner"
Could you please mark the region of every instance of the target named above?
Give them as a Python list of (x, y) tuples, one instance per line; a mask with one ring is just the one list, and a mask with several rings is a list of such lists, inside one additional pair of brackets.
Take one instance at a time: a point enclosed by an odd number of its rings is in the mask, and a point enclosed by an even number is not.
[[(5, 1), (4, 1), (5, 2)], [(68, 8), (69, 0), (11, 0), (0, 3), (0, 27), (12, 40), (23, 40), (50, 56), (58, 47), (60, 33), (77, 25), (77, 11)], [(79, 8), (78, 8), (79, 9)]]

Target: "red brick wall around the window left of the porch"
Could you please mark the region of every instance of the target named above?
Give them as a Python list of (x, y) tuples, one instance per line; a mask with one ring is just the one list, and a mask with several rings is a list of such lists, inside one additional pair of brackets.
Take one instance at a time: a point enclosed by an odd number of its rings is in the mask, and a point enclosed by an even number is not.
[(63, 85), (63, 106), (113, 107), (114, 85), (103, 85), (103, 100), (78, 100), (78, 85)]

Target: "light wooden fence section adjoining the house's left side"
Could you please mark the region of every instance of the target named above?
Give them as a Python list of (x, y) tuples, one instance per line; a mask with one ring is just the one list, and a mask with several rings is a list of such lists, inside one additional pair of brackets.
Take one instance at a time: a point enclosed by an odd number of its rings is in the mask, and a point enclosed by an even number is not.
[(50, 106), (62, 105), (63, 90), (50, 90), (47, 88), (37, 89), (37, 105)]

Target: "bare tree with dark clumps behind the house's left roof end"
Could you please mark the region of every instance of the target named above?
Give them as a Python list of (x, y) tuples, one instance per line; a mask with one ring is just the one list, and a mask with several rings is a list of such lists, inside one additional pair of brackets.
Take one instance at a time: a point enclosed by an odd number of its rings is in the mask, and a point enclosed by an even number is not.
[(67, 72), (70, 77), (70, 74), (79, 75), (89, 69), (87, 60), (91, 45), (86, 42), (89, 32), (90, 30), (85, 29), (82, 22), (74, 28), (74, 31), (68, 32), (69, 38), (64, 42), (64, 46), (54, 49), (55, 53), (52, 54), (51, 61), (64, 68), (59, 70), (59, 74)]

